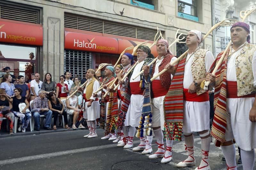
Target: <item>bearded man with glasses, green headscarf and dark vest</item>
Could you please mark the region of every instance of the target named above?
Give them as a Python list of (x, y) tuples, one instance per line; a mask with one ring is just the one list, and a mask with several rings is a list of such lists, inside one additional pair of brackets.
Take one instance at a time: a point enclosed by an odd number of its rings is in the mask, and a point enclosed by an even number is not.
[[(139, 120), (142, 112), (143, 105), (143, 91), (144, 82), (142, 81), (142, 75), (137, 76), (142, 70), (142, 67), (146, 65), (154, 57), (151, 54), (151, 50), (148, 46), (140, 45), (137, 49), (138, 64), (131, 71), (129, 78), (122, 84), (127, 84), (125, 90), (124, 101), (121, 107), (120, 114), (118, 116), (119, 126), (123, 125), (124, 131), (124, 143), (117, 144), (117, 146), (123, 146), (124, 149), (133, 147), (133, 137), (135, 135), (136, 127), (139, 126)], [(133, 78), (135, 78), (133, 80)], [(140, 140), (140, 145), (145, 145), (144, 141)]]

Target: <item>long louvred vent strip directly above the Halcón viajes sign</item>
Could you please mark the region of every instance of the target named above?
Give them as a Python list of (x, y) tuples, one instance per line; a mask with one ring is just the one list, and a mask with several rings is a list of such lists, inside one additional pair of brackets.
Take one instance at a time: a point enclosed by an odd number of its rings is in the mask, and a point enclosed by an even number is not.
[[(121, 24), (118, 22), (88, 18), (85, 16), (78, 16), (69, 13), (65, 13), (64, 15), (64, 26), (68, 28), (108, 33), (151, 41), (154, 40), (155, 34), (157, 33), (157, 30), (155, 29), (148, 29), (128, 24)], [(161, 33), (164, 36), (164, 31), (161, 31)]]

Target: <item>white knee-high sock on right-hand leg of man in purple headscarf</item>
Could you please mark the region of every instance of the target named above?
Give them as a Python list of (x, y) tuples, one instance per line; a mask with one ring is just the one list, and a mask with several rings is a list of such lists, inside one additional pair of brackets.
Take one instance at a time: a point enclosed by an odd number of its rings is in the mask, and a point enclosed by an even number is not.
[(254, 149), (251, 151), (244, 151), (241, 149), (241, 159), (243, 162), (243, 168), (246, 170), (252, 170), (255, 160)]

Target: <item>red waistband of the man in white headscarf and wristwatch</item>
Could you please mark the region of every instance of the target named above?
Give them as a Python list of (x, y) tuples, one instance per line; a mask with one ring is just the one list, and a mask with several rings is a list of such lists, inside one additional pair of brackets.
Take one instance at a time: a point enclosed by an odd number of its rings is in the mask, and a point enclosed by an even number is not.
[(184, 94), (184, 100), (186, 100), (186, 101), (196, 101), (196, 102), (209, 101), (208, 92), (204, 92), (200, 95), (197, 95), (196, 92), (189, 93), (188, 89), (183, 88), (183, 94)]

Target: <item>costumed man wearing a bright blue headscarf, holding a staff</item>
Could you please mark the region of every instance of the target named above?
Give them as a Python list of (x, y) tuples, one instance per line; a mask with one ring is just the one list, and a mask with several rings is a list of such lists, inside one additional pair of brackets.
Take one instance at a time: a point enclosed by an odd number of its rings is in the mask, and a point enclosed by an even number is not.
[[(121, 57), (121, 64), (117, 64), (116, 66), (116, 76), (118, 78), (119, 81), (122, 80), (123, 76), (127, 73), (127, 71), (132, 67), (132, 65), (134, 64), (134, 57), (133, 55), (131, 55), (130, 53), (124, 53), (124, 55), (122, 55)], [(120, 73), (117, 72), (117, 70), (122, 69), (123, 72)], [(117, 143), (119, 144), (119, 147), (124, 146), (124, 132), (123, 132), (123, 127), (118, 125), (118, 114), (121, 110), (121, 106), (124, 100), (124, 92), (127, 88), (127, 79), (126, 78), (126, 83), (125, 84), (118, 84), (118, 88), (117, 88), (117, 104), (118, 106), (112, 106), (112, 122), (111, 125), (114, 126), (117, 130), (117, 134), (118, 137), (116, 140), (113, 141), (113, 143)], [(113, 90), (113, 89), (112, 89)], [(111, 91), (111, 90), (110, 90)], [(116, 98), (114, 98), (115, 101)]]

